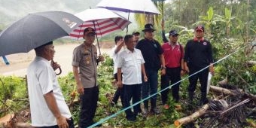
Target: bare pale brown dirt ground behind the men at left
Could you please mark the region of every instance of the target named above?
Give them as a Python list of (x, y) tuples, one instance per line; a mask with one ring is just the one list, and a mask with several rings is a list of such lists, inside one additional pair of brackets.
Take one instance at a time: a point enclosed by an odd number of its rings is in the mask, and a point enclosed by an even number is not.
[[(59, 44), (55, 45), (54, 61), (58, 62), (62, 69), (62, 75), (67, 75), (72, 72), (72, 53), (79, 44)], [(109, 53), (112, 46), (102, 46), (102, 53)], [(98, 52), (99, 53), (99, 52)], [(16, 53), (6, 56), (10, 65), (6, 66), (5, 62), (0, 60), (0, 74), (1, 75), (16, 75), (24, 77), (29, 63), (35, 58), (35, 51), (31, 50), (29, 53)], [(59, 72), (59, 71), (56, 71)]]

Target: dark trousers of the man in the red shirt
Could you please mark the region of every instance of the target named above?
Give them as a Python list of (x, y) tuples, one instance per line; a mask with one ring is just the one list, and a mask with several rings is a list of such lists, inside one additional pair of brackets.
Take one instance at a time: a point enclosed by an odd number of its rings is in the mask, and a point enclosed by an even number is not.
[[(180, 67), (166, 68), (166, 75), (161, 76), (161, 90), (165, 89), (166, 87), (169, 87), (170, 81), (171, 81), (171, 85), (172, 85), (172, 97), (173, 97), (173, 99), (175, 99), (176, 102), (178, 102), (178, 100), (179, 100), (178, 91), (179, 91), (179, 85), (181, 84), (180, 82), (178, 82), (178, 81), (181, 81), (181, 68)], [(175, 84), (175, 85), (173, 85), (173, 84)], [(166, 104), (166, 102), (167, 102), (168, 93), (169, 93), (169, 89), (161, 92), (161, 99), (162, 99), (163, 105)]]

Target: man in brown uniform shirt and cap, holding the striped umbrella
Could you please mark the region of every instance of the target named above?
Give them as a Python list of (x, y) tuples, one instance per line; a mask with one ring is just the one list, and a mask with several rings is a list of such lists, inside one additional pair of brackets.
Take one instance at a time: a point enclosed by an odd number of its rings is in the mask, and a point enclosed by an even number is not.
[[(84, 43), (75, 47), (73, 53), (73, 73), (77, 83), (78, 93), (81, 100), (81, 112), (79, 115), (79, 127), (84, 128), (93, 125), (93, 117), (96, 112), (99, 99), (99, 87), (96, 83), (97, 63), (104, 61), (103, 56), (97, 57), (93, 28), (84, 29)], [(79, 68), (79, 73), (78, 73)]]

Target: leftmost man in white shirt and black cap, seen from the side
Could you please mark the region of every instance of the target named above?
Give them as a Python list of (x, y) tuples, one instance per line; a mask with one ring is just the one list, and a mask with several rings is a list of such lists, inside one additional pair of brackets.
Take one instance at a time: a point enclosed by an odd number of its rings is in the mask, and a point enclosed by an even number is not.
[(72, 128), (72, 114), (53, 70), (58, 65), (52, 67), (49, 62), (54, 53), (53, 41), (35, 48), (35, 59), (27, 70), (32, 126)]

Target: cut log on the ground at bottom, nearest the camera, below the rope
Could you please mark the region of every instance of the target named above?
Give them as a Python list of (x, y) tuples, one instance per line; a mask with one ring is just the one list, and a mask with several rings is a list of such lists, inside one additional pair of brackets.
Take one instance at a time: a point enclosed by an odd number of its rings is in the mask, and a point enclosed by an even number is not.
[(196, 120), (198, 117), (200, 117), (201, 115), (205, 114), (206, 111), (208, 110), (209, 108), (209, 105), (206, 104), (206, 105), (203, 105), (202, 108), (200, 108), (199, 110), (197, 110), (196, 112), (194, 112), (194, 114), (190, 114), (189, 116), (187, 117), (182, 117), (181, 119), (178, 119), (178, 120), (175, 120), (174, 121), (174, 125), (176, 127), (178, 126), (181, 126), (181, 125), (184, 125), (186, 123), (190, 123), (194, 120)]

